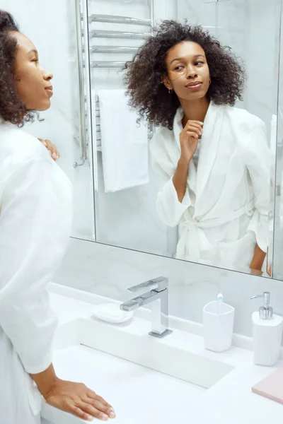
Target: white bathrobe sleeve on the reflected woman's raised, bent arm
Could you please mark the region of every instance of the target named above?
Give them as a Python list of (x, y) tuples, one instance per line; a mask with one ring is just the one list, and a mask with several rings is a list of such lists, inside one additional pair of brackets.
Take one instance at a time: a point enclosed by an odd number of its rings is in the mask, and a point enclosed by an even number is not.
[(175, 227), (180, 223), (183, 213), (190, 206), (191, 199), (187, 186), (182, 203), (178, 200), (178, 194), (173, 184), (173, 175), (180, 153), (175, 152), (174, 141), (167, 139), (165, 131), (168, 130), (159, 129), (151, 140), (151, 167), (163, 179), (163, 186), (158, 192), (156, 201), (158, 216), (166, 225)]

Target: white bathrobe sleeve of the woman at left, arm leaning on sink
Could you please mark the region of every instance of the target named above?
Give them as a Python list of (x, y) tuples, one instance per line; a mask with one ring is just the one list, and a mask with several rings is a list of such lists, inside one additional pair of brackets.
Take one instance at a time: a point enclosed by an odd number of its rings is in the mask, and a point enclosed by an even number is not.
[(67, 248), (71, 183), (45, 158), (26, 158), (5, 180), (0, 216), (0, 326), (28, 373), (52, 362), (57, 317), (45, 291)]

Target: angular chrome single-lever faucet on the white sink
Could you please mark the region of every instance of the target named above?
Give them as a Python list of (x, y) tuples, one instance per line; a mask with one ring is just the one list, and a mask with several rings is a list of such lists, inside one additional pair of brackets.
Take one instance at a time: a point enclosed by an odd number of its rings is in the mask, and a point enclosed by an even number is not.
[(145, 281), (145, 283), (134, 285), (128, 290), (137, 293), (146, 288), (149, 288), (149, 291), (142, 293), (137, 298), (122, 303), (120, 309), (123, 311), (132, 311), (140, 306), (152, 303), (151, 332), (149, 335), (163, 338), (172, 333), (168, 329), (168, 278), (154, 278)]

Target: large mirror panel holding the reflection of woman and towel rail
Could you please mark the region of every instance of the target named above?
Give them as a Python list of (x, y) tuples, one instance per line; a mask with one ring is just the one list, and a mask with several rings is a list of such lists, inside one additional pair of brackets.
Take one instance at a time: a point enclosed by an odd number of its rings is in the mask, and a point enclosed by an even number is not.
[(94, 206), (74, 237), (272, 276), (282, 1), (82, 3)]

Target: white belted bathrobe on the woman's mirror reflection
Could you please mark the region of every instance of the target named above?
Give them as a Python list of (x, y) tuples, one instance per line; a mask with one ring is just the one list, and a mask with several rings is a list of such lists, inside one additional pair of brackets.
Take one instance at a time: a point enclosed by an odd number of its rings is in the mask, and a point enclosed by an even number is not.
[(151, 140), (152, 166), (165, 181), (158, 215), (179, 225), (178, 259), (248, 271), (256, 243), (267, 251), (271, 156), (265, 124), (246, 110), (210, 102), (197, 171), (191, 160), (180, 203), (172, 178), (183, 114), (179, 107), (173, 130), (162, 127)]

